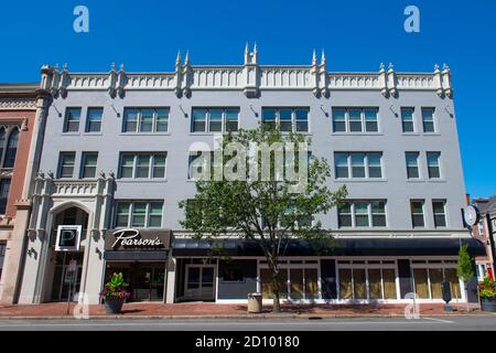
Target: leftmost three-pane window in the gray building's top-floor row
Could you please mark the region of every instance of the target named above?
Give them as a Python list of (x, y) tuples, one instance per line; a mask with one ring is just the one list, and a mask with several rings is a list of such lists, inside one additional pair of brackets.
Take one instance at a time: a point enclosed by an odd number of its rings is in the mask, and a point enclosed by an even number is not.
[(168, 132), (169, 108), (125, 108), (123, 132)]

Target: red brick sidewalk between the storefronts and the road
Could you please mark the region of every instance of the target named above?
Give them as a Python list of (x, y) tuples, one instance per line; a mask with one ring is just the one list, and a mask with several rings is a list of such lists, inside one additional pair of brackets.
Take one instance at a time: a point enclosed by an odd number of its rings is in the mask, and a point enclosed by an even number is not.
[[(471, 312), (466, 312), (465, 304), (453, 304), (454, 311), (446, 313), (443, 304), (420, 304), (420, 315), (481, 315), (490, 314), (471, 306)], [(0, 319), (72, 319), (75, 303), (71, 304), (67, 315), (66, 303), (43, 303), (29, 306), (0, 306)], [(122, 314), (106, 314), (104, 306), (89, 306), (91, 319), (186, 319), (186, 318), (380, 318), (403, 317), (406, 304), (283, 304), (282, 312), (273, 314), (271, 306), (263, 307), (262, 313), (248, 313), (245, 304), (216, 304), (205, 302), (185, 303), (126, 303)]]

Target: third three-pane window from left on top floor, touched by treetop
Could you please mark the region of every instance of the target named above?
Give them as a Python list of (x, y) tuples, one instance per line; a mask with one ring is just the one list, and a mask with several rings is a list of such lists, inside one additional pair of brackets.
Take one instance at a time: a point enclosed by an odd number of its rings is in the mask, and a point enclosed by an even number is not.
[(262, 108), (262, 124), (283, 132), (308, 132), (309, 108)]

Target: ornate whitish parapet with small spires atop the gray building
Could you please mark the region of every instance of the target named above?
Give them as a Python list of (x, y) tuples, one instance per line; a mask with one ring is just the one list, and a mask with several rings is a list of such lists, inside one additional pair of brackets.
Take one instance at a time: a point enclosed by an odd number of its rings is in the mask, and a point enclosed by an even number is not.
[(190, 54), (184, 63), (177, 54), (173, 73), (127, 73), (123, 65), (108, 73), (69, 73), (67, 65), (43, 66), (42, 89), (56, 96), (68, 90), (108, 90), (111, 96), (123, 96), (126, 90), (174, 90), (177, 97), (190, 96), (192, 90), (244, 90), (248, 97), (259, 95), (260, 89), (311, 90), (316, 97), (326, 97), (330, 90), (370, 89), (385, 97), (395, 97), (398, 90), (433, 90), (440, 97), (452, 96), (451, 69), (438, 65), (433, 73), (397, 73), (392, 64), (386, 69), (380, 65), (376, 73), (333, 73), (326, 69), (322, 53), (317, 63), (315, 53), (311, 65), (259, 65), (258, 52), (245, 50), (244, 65), (193, 66)]

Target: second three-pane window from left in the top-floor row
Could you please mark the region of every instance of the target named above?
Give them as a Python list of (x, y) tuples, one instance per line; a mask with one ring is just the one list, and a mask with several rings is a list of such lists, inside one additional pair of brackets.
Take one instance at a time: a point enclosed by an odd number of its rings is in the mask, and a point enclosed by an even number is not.
[(239, 108), (193, 108), (192, 132), (238, 130)]

